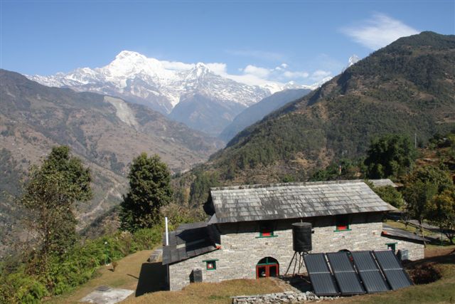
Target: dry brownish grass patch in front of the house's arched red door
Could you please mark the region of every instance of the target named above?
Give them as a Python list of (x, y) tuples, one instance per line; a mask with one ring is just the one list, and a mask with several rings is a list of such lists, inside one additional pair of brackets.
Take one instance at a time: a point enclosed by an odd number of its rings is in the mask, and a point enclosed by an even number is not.
[(159, 291), (138, 298), (128, 298), (125, 304), (172, 303), (232, 303), (231, 296), (279, 293), (284, 291), (270, 278), (260, 280), (230, 280), (221, 283), (193, 283), (179, 291)]

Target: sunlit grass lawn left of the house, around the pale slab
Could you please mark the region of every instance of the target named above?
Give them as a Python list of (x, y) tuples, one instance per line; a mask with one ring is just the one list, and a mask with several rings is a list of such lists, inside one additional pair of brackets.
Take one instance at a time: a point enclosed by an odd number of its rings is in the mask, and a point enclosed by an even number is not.
[[(118, 261), (118, 266), (115, 268), (115, 271), (112, 271), (112, 266), (102, 266), (97, 271), (97, 276), (95, 278), (92, 278), (84, 285), (76, 288), (71, 293), (50, 298), (47, 303), (80, 304), (78, 301), (81, 298), (84, 298), (85, 295), (88, 295), (101, 285), (136, 290), (141, 265), (149, 258), (151, 253), (151, 250), (144, 250), (122, 258)], [(134, 298), (134, 293), (130, 295), (130, 297)]]

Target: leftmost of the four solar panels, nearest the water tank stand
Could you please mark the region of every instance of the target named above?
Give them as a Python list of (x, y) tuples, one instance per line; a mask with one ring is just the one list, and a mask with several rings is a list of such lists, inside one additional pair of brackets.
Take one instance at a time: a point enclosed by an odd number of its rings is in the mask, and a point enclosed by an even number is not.
[(316, 295), (338, 295), (338, 288), (336, 288), (324, 253), (306, 254), (304, 262)]

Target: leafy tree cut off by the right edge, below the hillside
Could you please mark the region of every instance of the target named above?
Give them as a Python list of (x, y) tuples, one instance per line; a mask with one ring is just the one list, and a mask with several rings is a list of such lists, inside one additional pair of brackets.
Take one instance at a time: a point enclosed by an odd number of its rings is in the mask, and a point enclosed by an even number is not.
[(441, 194), (433, 197), (428, 202), (428, 218), (429, 221), (441, 229), (449, 239), (451, 244), (454, 244), (455, 238), (455, 188), (444, 190)]

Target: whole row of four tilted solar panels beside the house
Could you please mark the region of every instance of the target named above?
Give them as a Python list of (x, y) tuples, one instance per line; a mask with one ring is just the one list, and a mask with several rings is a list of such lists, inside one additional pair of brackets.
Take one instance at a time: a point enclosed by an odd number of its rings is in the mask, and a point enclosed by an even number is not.
[[(351, 260), (352, 258), (352, 260)], [(304, 256), (316, 295), (360, 295), (412, 285), (392, 251), (311, 253)]]

